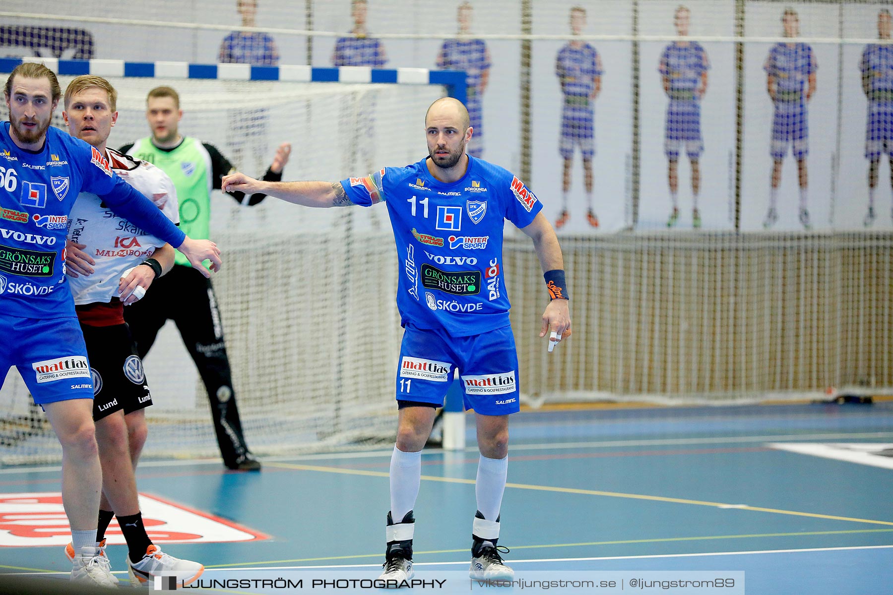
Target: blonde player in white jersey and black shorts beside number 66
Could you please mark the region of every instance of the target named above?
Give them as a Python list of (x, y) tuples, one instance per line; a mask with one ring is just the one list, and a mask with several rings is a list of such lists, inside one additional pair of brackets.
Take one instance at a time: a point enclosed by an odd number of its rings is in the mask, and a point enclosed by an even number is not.
[[(64, 96), (63, 119), (69, 132), (93, 145), (115, 173), (179, 225), (171, 178), (146, 161), (105, 146), (118, 119), (117, 95), (101, 77), (73, 79)], [(105, 529), (117, 516), (128, 545), (133, 586), (146, 585), (162, 572), (175, 574), (177, 583), (192, 583), (204, 566), (163, 553), (149, 539), (139, 510), (134, 468), (146, 443), (145, 408), (152, 404), (152, 396), (123, 317), (124, 306), (137, 302), (156, 277), (171, 269), (174, 249), (115, 216), (96, 194), (79, 194), (68, 220), (66, 264), (93, 376), (93, 417), (103, 469), (97, 544), (104, 549)], [(74, 557), (71, 544), (65, 553)], [(107, 557), (102, 558), (109, 564)]]

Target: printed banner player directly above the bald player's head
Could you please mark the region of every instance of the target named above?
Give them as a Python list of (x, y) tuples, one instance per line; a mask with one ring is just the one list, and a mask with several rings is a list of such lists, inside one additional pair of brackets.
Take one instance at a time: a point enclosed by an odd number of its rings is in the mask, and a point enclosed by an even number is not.
[(474, 142), (467, 147), (468, 154), (472, 157), (480, 157), (484, 150), (483, 128), (483, 100), (484, 91), (490, 77), (490, 51), (483, 39), (469, 39), (472, 33), (472, 4), (463, 2), (459, 4), (458, 21), (459, 35), (466, 36), (457, 39), (447, 39), (440, 46), (438, 54), (438, 68), (446, 70), (464, 70), (465, 78), (465, 106), (468, 108), (468, 117), (474, 128)]

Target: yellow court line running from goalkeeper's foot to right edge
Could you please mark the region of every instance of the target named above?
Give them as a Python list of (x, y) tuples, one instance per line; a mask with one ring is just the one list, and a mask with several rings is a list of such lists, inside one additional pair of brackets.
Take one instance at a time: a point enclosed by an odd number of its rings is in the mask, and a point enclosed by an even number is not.
[[(267, 463), (270, 467), (295, 469), (296, 471), (318, 471), (321, 473), (335, 473), (340, 475), (367, 475), (370, 477), (389, 477), (385, 471), (369, 471), (365, 469), (345, 469), (342, 467), (321, 467), (317, 465), (296, 465), (293, 463)], [(440, 483), (466, 483), (473, 485), (473, 479), (465, 479), (464, 477), (439, 477), (437, 475), (421, 475), (421, 479), (429, 482)], [(822, 515), (815, 512), (800, 512), (798, 510), (782, 510), (780, 508), (764, 508), (749, 505), (731, 505), (728, 502), (709, 502), (705, 500), (689, 500), (686, 498), (671, 498), (668, 496), (651, 496), (647, 494), (632, 494), (624, 492), (603, 492), (601, 490), (583, 490), (580, 488), (563, 488), (551, 485), (535, 485), (531, 483), (505, 483), (506, 488), (514, 488), (516, 490), (533, 490), (537, 492), (559, 492), (571, 494), (583, 494), (587, 496), (605, 496), (607, 498), (625, 498), (628, 500), (651, 500), (655, 502), (669, 502), (672, 504), (691, 504), (694, 506), (707, 506), (711, 508), (721, 508), (729, 510), (750, 510), (752, 512), (769, 512), (775, 515), (789, 516), (809, 516), (812, 518), (824, 518), (834, 521), (848, 521), (850, 523), (869, 523), (871, 525), (890, 525), (893, 521), (878, 521), (868, 518), (855, 518), (852, 516), (836, 516)], [(734, 508), (729, 508), (734, 507)]]

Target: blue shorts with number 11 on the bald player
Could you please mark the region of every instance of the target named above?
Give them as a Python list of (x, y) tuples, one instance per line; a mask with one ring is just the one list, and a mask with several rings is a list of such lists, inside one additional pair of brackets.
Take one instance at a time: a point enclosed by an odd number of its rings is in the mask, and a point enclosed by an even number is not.
[(396, 373), (397, 401), (442, 406), (459, 368), (465, 409), (485, 416), (517, 413), (518, 353), (511, 326), (451, 337), (441, 329), (406, 325)]

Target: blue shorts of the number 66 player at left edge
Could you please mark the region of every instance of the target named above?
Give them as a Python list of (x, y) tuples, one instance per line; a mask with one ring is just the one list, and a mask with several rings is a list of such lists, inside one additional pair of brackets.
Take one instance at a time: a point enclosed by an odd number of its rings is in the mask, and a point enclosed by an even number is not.
[(0, 316), (0, 386), (10, 367), (38, 405), (69, 399), (93, 399), (87, 345), (78, 318)]

